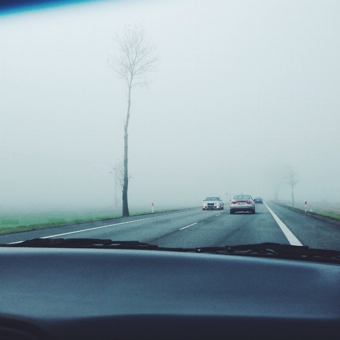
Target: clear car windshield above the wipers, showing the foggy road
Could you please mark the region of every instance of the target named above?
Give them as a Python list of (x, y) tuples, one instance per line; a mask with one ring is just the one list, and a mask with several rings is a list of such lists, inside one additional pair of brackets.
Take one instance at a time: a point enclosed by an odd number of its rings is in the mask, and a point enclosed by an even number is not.
[(334, 1), (0, 7), (0, 243), (340, 250), (339, 19)]

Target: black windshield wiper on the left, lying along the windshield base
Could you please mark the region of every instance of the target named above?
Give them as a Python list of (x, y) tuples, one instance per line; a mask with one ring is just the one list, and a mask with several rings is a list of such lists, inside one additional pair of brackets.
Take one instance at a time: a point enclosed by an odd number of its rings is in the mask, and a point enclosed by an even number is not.
[(81, 247), (110, 247), (110, 248), (143, 248), (157, 249), (153, 244), (139, 241), (112, 241), (100, 238), (33, 238), (12, 244), (1, 244), (7, 247), (42, 247), (42, 248), (81, 248)]

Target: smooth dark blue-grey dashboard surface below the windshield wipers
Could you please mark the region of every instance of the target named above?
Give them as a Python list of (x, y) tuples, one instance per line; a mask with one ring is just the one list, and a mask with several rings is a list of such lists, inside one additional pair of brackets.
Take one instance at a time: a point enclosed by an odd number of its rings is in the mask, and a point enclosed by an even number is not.
[(54, 339), (335, 339), (339, 297), (335, 264), (0, 248), (0, 337), (25, 328)]

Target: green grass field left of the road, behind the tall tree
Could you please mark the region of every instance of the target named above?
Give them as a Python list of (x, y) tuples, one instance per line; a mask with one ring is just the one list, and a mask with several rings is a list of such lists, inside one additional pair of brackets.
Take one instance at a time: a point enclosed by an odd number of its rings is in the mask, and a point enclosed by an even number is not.
[[(185, 209), (174, 207), (156, 210), (156, 212)], [(150, 209), (132, 208), (130, 216), (150, 214)], [(102, 221), (121, 217), (121, 210), (65, 210), (65, 211), (1, 211), (0, 234), (9, 234), (20, 231), (38, 230), (59, 227), (63, 225), (78, 224), (93, 221)]]

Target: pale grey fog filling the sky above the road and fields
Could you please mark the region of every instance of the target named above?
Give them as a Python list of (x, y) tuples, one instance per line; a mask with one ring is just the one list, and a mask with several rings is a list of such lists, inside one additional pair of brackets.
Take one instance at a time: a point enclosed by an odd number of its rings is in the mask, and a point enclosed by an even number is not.
[[(107, 59), (142, 25), (130, 205), (340, 200), (340, 2), (90, 2), (0, 16), (0, 204), (113, 205), (127, 102)], [(226, 196), (228, 193), (228, 196)], [(118, 191), (121, 200), (121, 193)]]

